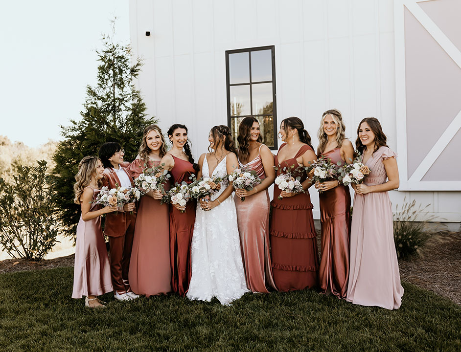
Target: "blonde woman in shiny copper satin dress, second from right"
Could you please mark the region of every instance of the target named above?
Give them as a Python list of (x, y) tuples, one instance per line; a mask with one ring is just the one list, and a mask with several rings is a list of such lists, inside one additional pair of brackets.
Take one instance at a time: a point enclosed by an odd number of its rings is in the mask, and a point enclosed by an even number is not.
[[(340, 111), (332, 109), (323, 112), (318, 133), (318, 156), (326, 156), (336, 165), (350, 164), (354, 158), (354, 147), (345, 138), (345, 130)], [(349, 187), (337, 180), (330, 180), (317, 182), (315, 188), (322, 191), (319, 195), (322, 225), (320, 288), (325, 294), (332, 293), (346, 299), (349, 279)]]

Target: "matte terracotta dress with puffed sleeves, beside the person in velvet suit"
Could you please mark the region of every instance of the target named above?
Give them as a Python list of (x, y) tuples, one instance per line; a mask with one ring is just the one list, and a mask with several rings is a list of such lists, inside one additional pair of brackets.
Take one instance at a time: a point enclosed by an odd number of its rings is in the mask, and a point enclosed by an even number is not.
[[(149, 160), (147, 165), (154, 168), (159, 163)], [(144, 170), (144, 161), (136, 159), (127, 170), (137, 178)], [(169, 187), (167, 182), (165, 191)], [(146, 297), (171, 292), (169, 206), (147, 195), (138, 204), (128, 272), (131, 289)]]

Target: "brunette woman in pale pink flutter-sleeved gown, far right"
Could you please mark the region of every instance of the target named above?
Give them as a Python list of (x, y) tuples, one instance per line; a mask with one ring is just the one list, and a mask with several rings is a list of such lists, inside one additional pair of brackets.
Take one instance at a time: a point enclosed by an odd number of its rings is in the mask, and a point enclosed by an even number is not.
[(356, 193), (350, 232), (347, 301), (397, 309), (402, 302), (403, 287), (387, 193), (399, 186), (396, 154), (386, 145), (386, 135), (374, 117), (363, 119), (357, 134), (357, 152), (362, 154), (362, 162), (371, 172), (364, 183), (352, 184)]

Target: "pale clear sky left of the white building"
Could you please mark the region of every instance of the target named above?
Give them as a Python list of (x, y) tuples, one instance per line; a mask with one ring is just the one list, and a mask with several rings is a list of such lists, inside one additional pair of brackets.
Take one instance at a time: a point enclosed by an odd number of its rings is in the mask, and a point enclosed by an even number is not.
[(128, 0), (0, 3), (0, 135), (30, 147), (60, 140), (96, 82), (101, 34), (129, 42)]

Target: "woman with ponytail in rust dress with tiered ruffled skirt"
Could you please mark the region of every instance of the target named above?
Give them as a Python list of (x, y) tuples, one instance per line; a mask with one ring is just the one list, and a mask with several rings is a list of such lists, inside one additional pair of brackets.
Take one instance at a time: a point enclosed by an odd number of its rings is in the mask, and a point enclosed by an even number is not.
[[(277, 175), (283, 168), (308, 166), (317, 159), (309, 133), (298, 117), (284, 119), (280, 125), (283, 143), (278, 149), (275, 164)], [(305, 171), (295, 172), (301, 177), (306, 193), (280, 192), (274, 186), (272, 219), (270, 225), (272, 268), (279, 291), (293, 291), (318, 285), (319, 254), (317, 249), (313, 205), (307, 189), (312, 185)], [(282, 199), (278, 199), (278, 196)]]

